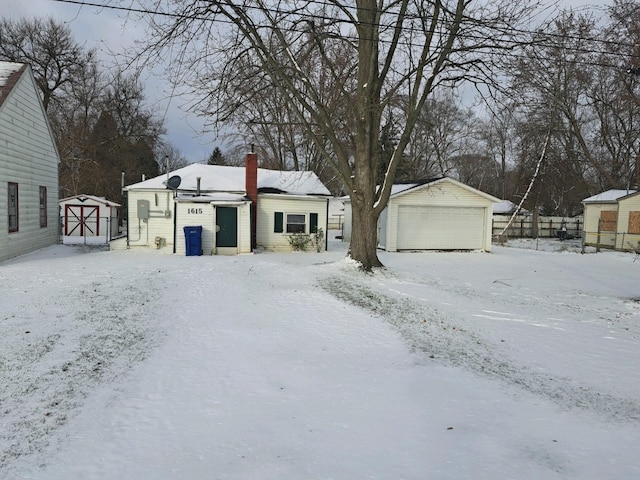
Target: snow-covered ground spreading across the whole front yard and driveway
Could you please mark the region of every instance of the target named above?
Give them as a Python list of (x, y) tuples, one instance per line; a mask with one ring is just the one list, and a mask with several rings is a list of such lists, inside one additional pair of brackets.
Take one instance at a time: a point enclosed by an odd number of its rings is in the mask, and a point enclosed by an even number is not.
[(640, 261), (510, 245), (0, 263), (0, 478), (640, 478)]

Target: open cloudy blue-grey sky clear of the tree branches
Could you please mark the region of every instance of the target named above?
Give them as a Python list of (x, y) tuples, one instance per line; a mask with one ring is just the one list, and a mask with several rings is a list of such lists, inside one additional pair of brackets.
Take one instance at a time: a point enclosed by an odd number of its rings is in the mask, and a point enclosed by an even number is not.
[[(93, 3), (108, 3), (106, 0), (92, 0)], [(561, 6), (579, 7), (603, 4), (611, 1), (565, 0)], [(136, 36), (144, 34), (144, 27), (136, 25), (130, 20), (125, 22), (124, 15), (114, 10), (97, 9), (95, 7), (80, 6), (57, 2), (55, 0), (0, 0), (0, 15), (12, 19), (20, 17), (48, 17), (68, 23), (75, 39), (84, 43), (88, 48), (96, 48), (103, 53), (105, 62), (112, 62), (109, 52), (120, 53), (131, 45)], [(205, 160), (213, 149), (218, 146), (224, 150), (220, 139), (214, 134), (202, 134), (202, 121), (195, 115), (185, 113), (181, 108), (185, 99), (173, 98), (169, 100), (170, 88), (159, 78), (146, 78), (145, 94), (148, 106), (160, 117), (165, 117), (168, 140), (176, 146), (189, 162)]]

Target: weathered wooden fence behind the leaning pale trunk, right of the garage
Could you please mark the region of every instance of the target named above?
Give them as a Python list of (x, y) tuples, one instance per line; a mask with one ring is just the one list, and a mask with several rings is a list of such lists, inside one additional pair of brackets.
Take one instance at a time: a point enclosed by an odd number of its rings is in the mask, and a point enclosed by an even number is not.
[[(509, 223), (509, 215), (494, 215), (492, 236), (495, 238), (502, 233)], [(562, 227), (566, 227), (566, 238), (582, 238), (584, 220), (580, 217), (538, 217), (538, 238), (558, 238)], [(533, 236), (533, 216), (517, 215), (509, 228), (502, 234), (505, 238), (531, 238)]]

